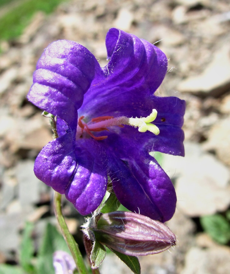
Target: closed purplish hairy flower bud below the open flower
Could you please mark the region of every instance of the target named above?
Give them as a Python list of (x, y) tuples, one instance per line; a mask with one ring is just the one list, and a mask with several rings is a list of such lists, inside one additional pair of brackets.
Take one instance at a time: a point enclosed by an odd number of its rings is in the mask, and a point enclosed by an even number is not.
[[(91, 228), (101, 244), (130, 256), (145, 256), (167, 250), (176, 238), (163, 223), (127, 211), (101, 214)], [(97, 219), (97, 217), (95, 218)]]

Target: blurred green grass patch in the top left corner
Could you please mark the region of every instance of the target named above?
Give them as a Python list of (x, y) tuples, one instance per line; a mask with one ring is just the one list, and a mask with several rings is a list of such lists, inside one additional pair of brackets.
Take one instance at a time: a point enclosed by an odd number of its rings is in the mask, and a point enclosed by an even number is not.
[[(9, 9), (0, 14), (0, 40), (10, 40), (22, 34), (24, 28), (30, 23), (35, 12), (46, 14), (52, 12), (58, 4), (65, 0), (0, 0), (0, 6)], [(15, 4), (14, 4), (15, 3)]]

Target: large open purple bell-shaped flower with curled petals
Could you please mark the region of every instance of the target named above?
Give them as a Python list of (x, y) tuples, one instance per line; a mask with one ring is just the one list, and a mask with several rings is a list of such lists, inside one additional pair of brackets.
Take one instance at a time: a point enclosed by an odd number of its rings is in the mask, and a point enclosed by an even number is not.
[[(42, 149), (34, 172), (82, 215), (99, 206), (109, 176), (126, 208), (165, 222), (175, 212), (175, 190), (149, 152), (184, 155), (185, 101), (154, 95), (167, 70), (157, 47), (115, 28), (106, 47), (104, 68), (68, 40), (53, 42), (39, 59), (28, 100), (57, 116), (59, 137)], [(146, 132), (122, 120), (147, 117), (153, 109), (157, 116), (146, 120)]]

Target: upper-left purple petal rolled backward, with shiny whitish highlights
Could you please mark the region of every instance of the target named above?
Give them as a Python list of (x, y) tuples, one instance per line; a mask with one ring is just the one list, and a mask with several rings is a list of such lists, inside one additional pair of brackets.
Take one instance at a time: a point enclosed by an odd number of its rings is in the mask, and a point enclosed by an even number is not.
[(28, 100), (74, 129), (77, 110), (98, 66), (94, 55), (82, 45), (68, 40), (55, 41), (37, 63)]

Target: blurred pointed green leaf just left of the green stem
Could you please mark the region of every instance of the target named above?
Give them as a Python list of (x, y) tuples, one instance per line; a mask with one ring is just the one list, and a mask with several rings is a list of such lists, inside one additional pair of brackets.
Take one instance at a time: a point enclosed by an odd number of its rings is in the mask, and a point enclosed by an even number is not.
[(38, 252), (37, 268), (39, 274), (55, 273), (53, 267), (53, 253), (57, 250), (70, 253), (62, 235), (55, 226), (48, 223)]

